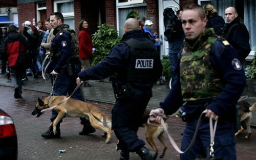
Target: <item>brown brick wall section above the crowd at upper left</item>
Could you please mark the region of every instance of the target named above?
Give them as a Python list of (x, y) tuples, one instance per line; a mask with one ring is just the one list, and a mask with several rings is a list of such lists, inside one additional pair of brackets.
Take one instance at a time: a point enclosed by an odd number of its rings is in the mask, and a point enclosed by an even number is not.
[(26, 20), (29, 20), (32, 24), (33, 18), (35, 18), (35, 21), (37, 21), (37, 19), (36, 19), (36, 4), (34, 2), (18, 5), (18, 26), (19, 26), (19, 30), (23, 29), (22, 24)]

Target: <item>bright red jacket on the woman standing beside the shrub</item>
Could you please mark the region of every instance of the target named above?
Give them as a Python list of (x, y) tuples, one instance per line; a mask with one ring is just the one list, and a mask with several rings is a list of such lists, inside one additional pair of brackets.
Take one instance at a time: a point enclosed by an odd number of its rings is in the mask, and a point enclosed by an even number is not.
[(82, 28), (78, 34), (79, 58), (90, 59), (93, 50), (92, 37), (88, 29)]

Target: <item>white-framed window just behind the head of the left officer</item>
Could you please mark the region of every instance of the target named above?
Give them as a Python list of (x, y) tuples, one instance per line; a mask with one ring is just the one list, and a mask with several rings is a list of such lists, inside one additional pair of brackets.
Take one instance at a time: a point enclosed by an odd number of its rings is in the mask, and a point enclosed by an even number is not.
[(64, 24), (69, 25), (71, 29), (75, 30), (74, 1), (54, 1), (54, 12), (61, 12), (64, 17)]

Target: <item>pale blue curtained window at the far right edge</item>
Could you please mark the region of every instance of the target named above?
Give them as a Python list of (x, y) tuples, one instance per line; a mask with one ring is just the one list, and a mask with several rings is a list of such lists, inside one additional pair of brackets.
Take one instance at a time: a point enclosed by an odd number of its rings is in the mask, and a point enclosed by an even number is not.
[(251, 50), (256, 51), (256, 1), (244, 0), (244, 24), (249, 30)]

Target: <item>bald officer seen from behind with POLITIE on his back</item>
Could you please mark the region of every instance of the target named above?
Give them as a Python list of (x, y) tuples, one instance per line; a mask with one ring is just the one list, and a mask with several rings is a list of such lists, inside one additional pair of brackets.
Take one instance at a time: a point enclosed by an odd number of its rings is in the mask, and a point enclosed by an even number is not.
[(137, 131), (139, 120), (152, 97), (152, 87), (162, 73), (162, 64), (153, 42), (145, 38), (135, 18), (124, 24), (125, 34), (99, 64), (78, 74), (77, 83), (109, 76), (116, 102), (112, 109), (112, 129), (121, 150), (120, 159), (136, 152), (141, 159), (155, 159), (157, 152), (144, 147)]

